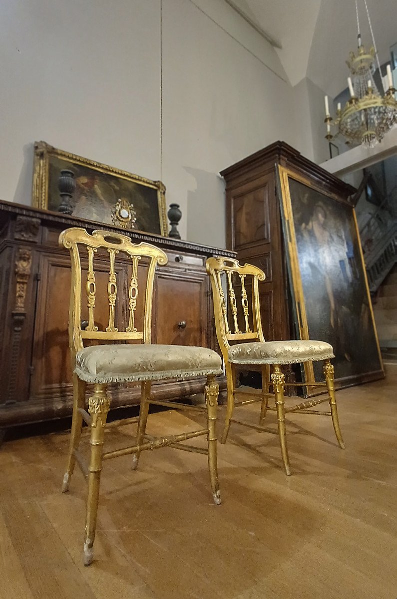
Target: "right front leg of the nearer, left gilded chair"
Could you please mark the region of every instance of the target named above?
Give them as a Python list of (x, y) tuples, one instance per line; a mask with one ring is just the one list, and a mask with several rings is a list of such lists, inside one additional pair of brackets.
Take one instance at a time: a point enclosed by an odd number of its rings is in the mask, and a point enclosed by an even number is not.
[(216, 456), (216, 409), (218, 407), (219, 385), (215, 382), (215, 377), (207, 377), (207, 383), (204, 387), (204, 394), (207, 406), (209, 479), (211, 483), (213, 501), (215, 504), (219, 505), (219, 503), (221, 503), (221, 492), (219, 491), (218, 459)]

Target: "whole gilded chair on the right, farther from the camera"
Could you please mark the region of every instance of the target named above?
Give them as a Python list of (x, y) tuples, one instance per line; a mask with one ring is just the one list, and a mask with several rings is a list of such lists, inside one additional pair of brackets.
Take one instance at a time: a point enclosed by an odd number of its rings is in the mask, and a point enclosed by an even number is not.
[[(341, 430), (339, 428), (338, 410), (336, 408), (335, 388), (333, 383), (333, 349), (329, 343), (324, 341), (265, 341), (262, 332), (259, 288), (258, 282), (264, 281), (264, 273), (251, 264), (240, 265), (236, 260), (228, 258), (208, 258), (206, 262), (207, 273), (210, 276), (213, 305), (215, 310), (216, 337), (225, 362), (227, 377), (227, 407), (224, 431), (221, 443), (227, 440), (231, 422), (248, 426), (255, 430), (266, 430), (263, 426), (267, 410), (275, 410), (277, 415), (278, 435), (281, 447), (282, 461), (285, 473), (290, 473), (290, 462), (288, 459), (287, 443), (285, 440), (285, 414), (294, 412), (296, 414), (312, 413), (317, 415), (328, 415), (332, 418), (333, 428), (339, 447), (344, 449)], [(222, 280), (224, 285), (222, 286)], [(249, 301), (247, 289), (251, 287), (252, 314), (249, 314)], [(238, 288), (240, 298), (237, 298), (235, 289)], [(225, 293), (228, 295), (230, 308), (227, 308)], [(239, 310), (237, 310), (237, 307)], [(240, 330), (243, 329), (243, 332)], [(324, 361), (324, 382), (310, 383), (288, 383), (291, 386), (310, 386), (311, 388), (326, 387), (327, 396), (317, 397), (312, 400), (303, 401), (293, 407), (284, 406), (285, 377), (281, 365), (299, 362)], [(239, 391), (236, 388), (236, 367), (251, 367), (261, 371), (262, 389), (259, 393)], [(272, 374), (270, 377), (270, 366)], [(270, 379), (270, 380), (269, 380)], [(269, 392), (270, 386), (273, 393)], [(243, 399), (238, 399), (243, 396)], [(245, 397), (251, 399), (245, 399)], [(269, 398), (275, 400), (275, 407), (268, 406)], [(329, 401), (330, 412), (318, 412), (311, 410), (312, 407)], [(258, 425), (241, 422), (233, 418), (234, 407), (261, 403), (260, 418)], [(270, 431), (269, 431), (270, 432)]]

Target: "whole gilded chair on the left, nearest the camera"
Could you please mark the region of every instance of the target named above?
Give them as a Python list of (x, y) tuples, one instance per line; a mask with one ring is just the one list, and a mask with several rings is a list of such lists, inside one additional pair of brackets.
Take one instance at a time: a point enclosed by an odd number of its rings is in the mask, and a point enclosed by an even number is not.
[[(86, 504), (86, 525), (84, 542), (84, 563), (89, 565), (93, 559), (93, 544), (97, 522), (100, 476), (103, 460), (132, 454), (132, 468), (138, 464), (139, 455), (144, 450), (160, 447), (206, 453), (209, 466), (210, 486), (213, 500), (221, 503), (216, 465), (216, 404), (219, 386), (215, 376), (222, 373), (221, 357), (210, 349), (201, 347), (182, 347), (151, 344), (152, 294), (155, 268), (167, 264), (166, 254), (157, 247), (146, 243), (133, 244), (125, 235), (94, 231), (92, 235), (85, 229), (71, 228), (59, 236), (59, 245), (70, 250), (71, 255), (71, 294), (69, 310), (69, 342), (73, 368), (73, 420), (71, 428), (70, 450), (67, 470), (62, 491), (68, 491), (74, 466), (77, 464), (88, 482)], [(128, 292), (118, 290), (115, 268), (116, 255), (121, 252), (127, 256)], [(105, 307), (109, 304), (109, 320), (105, 330), (98, 330), (95, 319), (95, 302), (98, 302), (95, 281), (94, 257), (102, 261), (102, 272), (109, 264), (107, 288), (104, 288)], [(86, 280), (83, 283), (88, 307), (88, 321), (82, 323), (82, 259), (86, 268)], [(105, 262), (104, 262), (105, 261)], [(141, 262), (142, 261), (142, 262)], [(95, 260), (96, 262), (96, 260)], [(139, 289), (139, 263), (147, 269), (146, 289)], [(143, 270), (145, 270), (145, 268)], [(142, 330), (137, 329), (137, 307), (143, 314)], [(120, 303), (120, 305), (119, 305)], [(125, 330), (119, 331), (116, 315), (124, 323)], [(102, 328), (105, 328), (103, 326)], [(85, 344), (92, 343), (85, 347)], [(150, 404), (184, 409), (181, 403), (155, 400), (151, 396), (151, 382), (184, 377), (206, 376), (204, 388), (206, 406), (205, 428), (163, 438), (149, 437), (145, 434)], [(108, 383), (137, 383), (141, 386), (139, 417), (122, 423), (137, 422), (136, 443), (130, 447), (104, 452), (104, 431), (107, 413), (110, 409), (110, 397), (107, 394)], [(94, 385), (94, 392), (88, 399), (86, 410), (86, 385)], [(192, 409), (185, 406), (185, 409)], [(197, 409), (200, 409), (198, 406)], [(79, 450), (83, 421), (90, 427), (91, 452), (88, 464)], [(112, 426), (115, 423), (110, 423)], [(207, 447), (189, 446), (182, 441), (206, 435)]]

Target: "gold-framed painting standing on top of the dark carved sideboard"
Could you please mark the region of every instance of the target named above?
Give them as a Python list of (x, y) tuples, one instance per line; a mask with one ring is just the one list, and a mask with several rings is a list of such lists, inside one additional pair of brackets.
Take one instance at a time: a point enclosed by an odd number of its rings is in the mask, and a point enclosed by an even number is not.
[(72, 171), (76, 181), (73, 216), (167, 235), (166, 187), (161, 181), (58, 150), (44, 141), (34, 145), (34, 207), (58, 211), (62, 170)]

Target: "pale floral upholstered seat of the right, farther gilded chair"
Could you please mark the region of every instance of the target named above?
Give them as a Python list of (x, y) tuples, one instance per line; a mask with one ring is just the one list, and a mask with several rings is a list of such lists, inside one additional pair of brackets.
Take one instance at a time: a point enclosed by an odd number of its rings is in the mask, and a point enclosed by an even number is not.
[(332, 346), (324, 341), (255, 341), (228, 350), (233, 364), (294, 364), (334, 357)]

